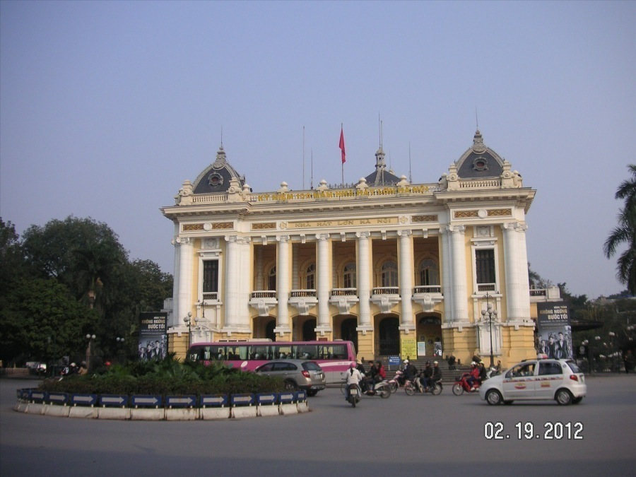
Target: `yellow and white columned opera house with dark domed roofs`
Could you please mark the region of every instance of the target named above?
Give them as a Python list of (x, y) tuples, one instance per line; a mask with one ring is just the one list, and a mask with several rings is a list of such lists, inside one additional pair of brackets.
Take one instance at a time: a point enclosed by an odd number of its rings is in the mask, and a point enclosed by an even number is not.
[[(196, 341), (349, 339), (365, 359), (420, 343), (462, 362), (536, 355), (526, 213), (536, 191), (473, 145), (437, 182), (384, 165), (351, 187), (252, 192), (223, 146), (174, 206), (169, 349)], [(482, 314), (488, 305), (496, 314)], [(191, 314), (190, 328), (184, 317)], [(425, 343), (425, 346), (421, 346)], [(403, 356), (402, 358), (406, 358)]]

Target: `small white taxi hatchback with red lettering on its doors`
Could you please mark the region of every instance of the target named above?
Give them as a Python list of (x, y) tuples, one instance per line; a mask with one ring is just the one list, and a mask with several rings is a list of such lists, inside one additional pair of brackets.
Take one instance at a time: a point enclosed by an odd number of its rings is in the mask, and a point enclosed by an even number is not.
[(579, 404), (587, 394), (585, 377), (572, 360), (524, 360), (502, 374), (486, 379), (479, 396), (488, 404), (555, 399), (558, 404)]

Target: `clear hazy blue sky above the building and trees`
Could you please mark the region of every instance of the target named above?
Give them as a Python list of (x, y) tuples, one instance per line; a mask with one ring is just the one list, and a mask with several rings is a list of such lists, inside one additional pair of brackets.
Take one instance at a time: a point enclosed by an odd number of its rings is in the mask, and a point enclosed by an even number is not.
[[(602, 246), (636, 163), (633, 1), (0, 1), (0, 216), (73, 214), (172, 273), (174, 204), (220, 144), (256, 192), (437, 182), (476, 129), (537, 189), (531, 267), (623, 290)], [(305, 126), (305, 177), (302, 128)], [(312, 151), (312, 152), (311, 152)]]

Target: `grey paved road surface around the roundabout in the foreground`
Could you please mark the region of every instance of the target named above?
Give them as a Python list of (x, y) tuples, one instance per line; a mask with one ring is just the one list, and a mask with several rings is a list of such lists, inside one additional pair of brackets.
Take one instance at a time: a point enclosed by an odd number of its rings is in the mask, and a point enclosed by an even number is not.
[[(0, 474), (67, 476), (633, 475), (636, 377), (588, 379), (578, 406), (488, 406), (476, 395), (365, 397), (348, 406), (339, 389), (310, 398), (298, 416), (196, 422), (54, 418), (12, 410), (0, 379)], [(503, 440), (484, 437), (502, 423)], [(519, 440), (516, 423), (541, 439)], [(582, 440), (544, 440), (546, 423), (582, 423)], [(495, 424), (493, 424), (494, 428)]]

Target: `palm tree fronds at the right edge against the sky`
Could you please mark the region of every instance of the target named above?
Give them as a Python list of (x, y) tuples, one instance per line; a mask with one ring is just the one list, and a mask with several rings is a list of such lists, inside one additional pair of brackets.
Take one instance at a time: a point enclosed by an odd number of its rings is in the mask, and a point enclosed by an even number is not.
[(620, 183), (616, 199), (624, 199), (625, 206), (618, 213), (618, 225), (612, 230), (603, 245), (603, 252), (609, 259), (619, 245), (625, 243), (628, 249), (618, 257), (616, 276), (625, 283), (632, 295), (636, 294), (636, 165), (628, 165), (632, 177)]

